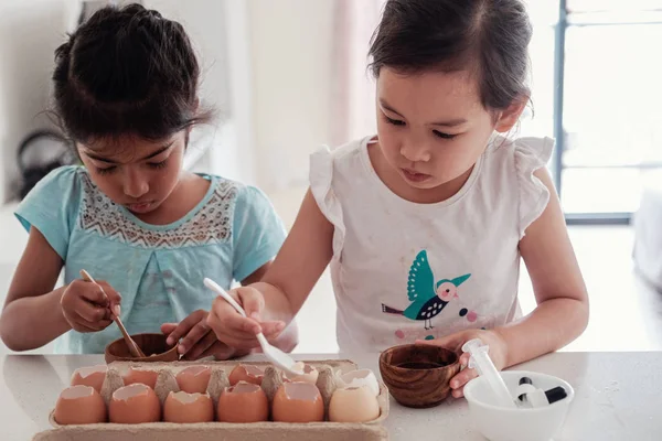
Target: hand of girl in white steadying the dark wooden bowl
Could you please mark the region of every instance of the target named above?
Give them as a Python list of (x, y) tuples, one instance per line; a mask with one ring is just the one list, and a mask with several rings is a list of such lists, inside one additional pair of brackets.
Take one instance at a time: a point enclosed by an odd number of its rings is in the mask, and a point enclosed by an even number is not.
[[(448, 335), (444, 338), (418, 340), (416, 341), (416, 344), (441, 346), (460, 354), (462, 351), (462, 345), (473, 338), (480, 338), (483, 344), (490, 346), (490, 358), (492, 358), (492, 363), (494, 363), (496, 369), (501, 370), (505, 367), (508, 361), (508, 344), (501, 334), (494, 330), (467, 330)], [(467, 365), (469, 364), (469, 357), (470, 354), (468, 353), (465, 353), (460, 356), (461, 370), (458, 375), (450, 379), (450, 388), (452, 389), (452, 396), (455, 398), (463, 397), (465, 385), (478, 376), (476, 369), (467, 368)]]

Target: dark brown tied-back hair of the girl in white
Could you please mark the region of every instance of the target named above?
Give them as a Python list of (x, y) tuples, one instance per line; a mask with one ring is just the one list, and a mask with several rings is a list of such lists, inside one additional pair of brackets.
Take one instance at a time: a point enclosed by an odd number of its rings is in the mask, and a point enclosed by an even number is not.
[(388, 0), (373, 34), (372, 73), (469, 69), (485, 109), (528, 98), (532, 26), (521, 0)]

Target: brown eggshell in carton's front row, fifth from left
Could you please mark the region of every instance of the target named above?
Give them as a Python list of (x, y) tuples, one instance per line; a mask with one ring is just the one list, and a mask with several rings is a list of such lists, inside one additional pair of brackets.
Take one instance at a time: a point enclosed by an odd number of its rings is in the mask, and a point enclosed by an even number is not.
[(314, 422), (324, 420), (320, 390), (310, 383), (285, 383), (273, 402), (274, 421)]

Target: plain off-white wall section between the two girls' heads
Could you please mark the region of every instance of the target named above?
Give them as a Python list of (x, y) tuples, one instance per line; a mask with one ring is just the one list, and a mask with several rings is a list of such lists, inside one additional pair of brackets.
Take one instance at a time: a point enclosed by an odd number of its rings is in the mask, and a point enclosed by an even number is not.
[(334, 0), (248, 6), (258, 183), (307, 183), (309, 154), (330, 139)]

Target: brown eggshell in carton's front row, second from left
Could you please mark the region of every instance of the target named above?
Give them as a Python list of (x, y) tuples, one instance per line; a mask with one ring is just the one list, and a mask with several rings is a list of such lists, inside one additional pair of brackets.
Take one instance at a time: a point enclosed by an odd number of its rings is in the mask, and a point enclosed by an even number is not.
[(157, 394), (140, 383), (117, 389), (108, 410), (110, 422), (139, 424), (161, 419), (161, 402)]

